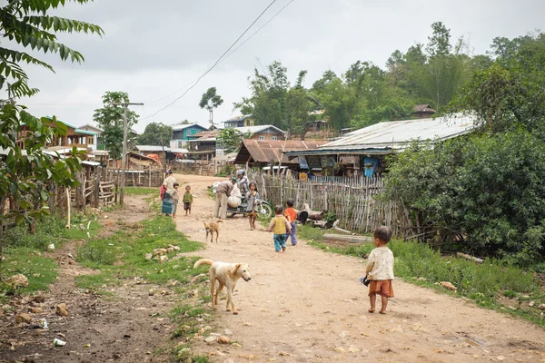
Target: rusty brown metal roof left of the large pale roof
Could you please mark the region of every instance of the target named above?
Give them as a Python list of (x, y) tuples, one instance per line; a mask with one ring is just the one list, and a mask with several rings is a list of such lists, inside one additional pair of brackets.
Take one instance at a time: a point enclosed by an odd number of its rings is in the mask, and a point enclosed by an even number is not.
[(246, 162), (269, 163), (271, 160), (282, 163), (298, 163), (289, 160), (282, 152), (291, 150), (314, 150), (318, 149), (325, 141), (317, 140), (244, 140), (241, 149), (236, 155), (234, 163), (244, 164)]

